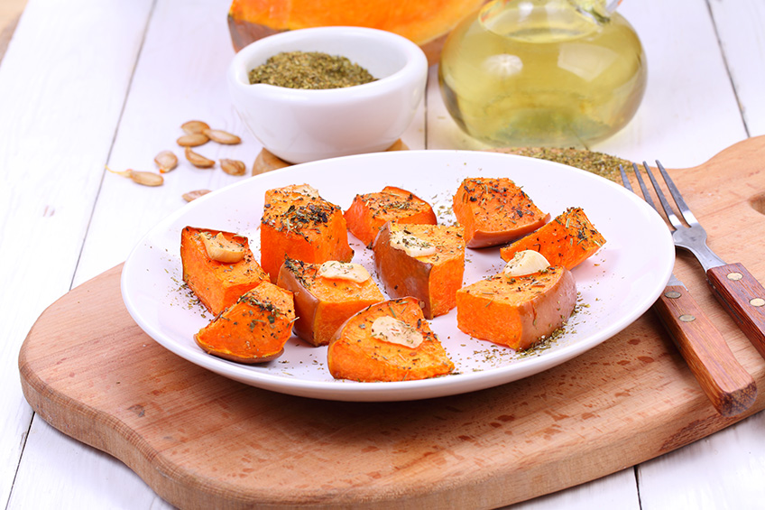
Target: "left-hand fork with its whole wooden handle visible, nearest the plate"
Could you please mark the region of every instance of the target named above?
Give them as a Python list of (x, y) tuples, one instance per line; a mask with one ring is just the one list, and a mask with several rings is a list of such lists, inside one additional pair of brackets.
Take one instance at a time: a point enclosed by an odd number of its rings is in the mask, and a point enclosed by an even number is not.
[[(659, 213), (659, 209), (656, 209), (653, 199), (650, 198), (637, 165), (633, 164), (633, 168), (643, 198)], [(646, 169), (648, 169), (647, 165)], [(632, 191), (630, 181), (621, 165), (619, 170), (622, 172), (624, 187)], [(663, 195), (650, 170), (647, 172), (661, 200)], [(667, 287), (654, 303), (653, 309), (668, 329), (677, 350), (686, 360), (702, 391), (714, 405), (714, 409), (723, 416), (734, 416), (749, 409), (757, 397), (754, 379), (733, 356), (723, 335), (706, 317), (704, 311), (675, 274), (669, 278)]]

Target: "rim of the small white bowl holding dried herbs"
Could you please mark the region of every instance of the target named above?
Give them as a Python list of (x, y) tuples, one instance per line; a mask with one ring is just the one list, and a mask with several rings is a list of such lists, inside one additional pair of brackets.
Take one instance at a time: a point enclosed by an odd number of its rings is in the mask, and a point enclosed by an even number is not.
[[(364, 37), (375, 42), (379, 41), (381, 46), (393, 47), (401, 52), (405, 60), (401, 69), (370, 83), (355, 85), (346, 88), (325, 88), (325, 89), (302, 89), (277, 87), (268, 84), (251, 84), (247, 78), (247, 72), (254, 66), (259, 65), (268, 57), (271, 57), (280, 51), (285, 44), (294, 42), (311, 42), (315, 36), (322, 38), (333, 35), (338, 38), (358, 39)], [(273, 51), (269, 51), (273, 49)], [(320, 49), (318, 51), (321, 51)], [(253, 53), (268, 53), (264, 59), (255, 59)], [(253, 60), (257, 60), (257, 63)], [(347, 102), (355, 98), (365, 98), (378, 96), (384, 91), (397, 88), (399, 82), (410, 82), (419, 79), (420, 68), (428, 69), (428, 60), (425, 53), (417, 44), (409, 39), (393, 32), (385, 32), (374, 28), (348, 27), (348, 26), (327, 26), (316, 28), (304, 28), (290, 32), (280, 32), (270, 35), (266, 38), (252, 42), (236, 53), (234, 60), (229, 66), (229, 79), (235, 87), (246, 91), (247, 89), (257, 88), (258, 95), (263, 97), (280, 98), (282, 100), (304, 100), (325, 102)], [(248, 69), (249, 68), (249, 69)]]

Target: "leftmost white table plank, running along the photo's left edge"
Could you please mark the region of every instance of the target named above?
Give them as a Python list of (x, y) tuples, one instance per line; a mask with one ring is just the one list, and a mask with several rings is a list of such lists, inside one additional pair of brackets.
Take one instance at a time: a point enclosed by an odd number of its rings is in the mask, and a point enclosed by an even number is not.
[(32, 418), (19, 348), (69, 291), (150, 7), (32, 0), (0, 66), (0, 310), (13, 311), (0, 333), (0, 501)]

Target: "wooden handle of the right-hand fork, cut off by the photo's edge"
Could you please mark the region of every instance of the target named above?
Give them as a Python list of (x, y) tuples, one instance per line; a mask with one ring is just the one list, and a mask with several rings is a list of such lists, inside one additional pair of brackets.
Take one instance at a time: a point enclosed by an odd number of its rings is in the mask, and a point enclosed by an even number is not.
[(765, 289), (742, 264), (713, 267), (706, 278), (751, 345), (765, 357)]

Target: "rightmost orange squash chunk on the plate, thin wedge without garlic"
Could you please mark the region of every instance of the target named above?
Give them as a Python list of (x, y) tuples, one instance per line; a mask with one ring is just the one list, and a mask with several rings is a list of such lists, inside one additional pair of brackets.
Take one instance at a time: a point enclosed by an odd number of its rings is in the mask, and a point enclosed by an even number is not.
[(604, 244), (604, 236), (590, 223), (585, 211), (569, 208), (529, 236), (502, 246), (500, 256), (509, 261), (522, 250), (534, 250), (545, 255), (550, 265), (572, 269)]

